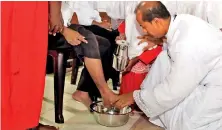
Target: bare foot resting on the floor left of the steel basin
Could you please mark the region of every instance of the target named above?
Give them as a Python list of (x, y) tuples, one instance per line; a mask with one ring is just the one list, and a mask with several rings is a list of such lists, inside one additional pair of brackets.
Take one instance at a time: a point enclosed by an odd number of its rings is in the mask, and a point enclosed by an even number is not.
[(89, 108), (90, 104), (92, 103), (92, 100), (90, 99), (88, 92), (76, 90), (72, 94), (72, 98), (78, 102), (83, 103), (87, 108)]

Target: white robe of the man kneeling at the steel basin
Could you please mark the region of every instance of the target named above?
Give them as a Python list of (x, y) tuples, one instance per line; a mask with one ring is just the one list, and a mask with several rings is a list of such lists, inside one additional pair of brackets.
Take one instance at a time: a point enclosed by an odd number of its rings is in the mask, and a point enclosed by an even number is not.
[(134, 91), (137, 105), (167, 130), (219, 130), (222, 33), (184, 14), (171, 21), (166, 37), (168, 56), (159, 57), (166, 61), (157, 60), (141, 90)]

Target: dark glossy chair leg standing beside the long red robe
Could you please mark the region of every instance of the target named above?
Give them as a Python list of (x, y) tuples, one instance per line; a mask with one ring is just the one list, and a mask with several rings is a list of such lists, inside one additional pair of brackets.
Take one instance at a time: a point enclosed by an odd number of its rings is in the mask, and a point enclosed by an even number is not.
[(63, 94), (66, 73), (66, 54), (58, 53), (54, 58), (54, 100), (55, 122), (64, 123), (63, 118)]

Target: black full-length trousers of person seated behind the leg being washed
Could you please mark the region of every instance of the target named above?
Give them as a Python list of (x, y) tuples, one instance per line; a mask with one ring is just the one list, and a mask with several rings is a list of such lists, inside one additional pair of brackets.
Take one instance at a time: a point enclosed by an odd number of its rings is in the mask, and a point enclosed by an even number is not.
[[(90, 30), (95, 35), (103, 37), (104, 39), (108, 40), (111, 44), (106, 53), (101, 56), (104, 77), (106, 81), (111, 78), (113, 82), (119, 82), (119, 72), (112, 68), (113, 52), (117, 47), (117, 45), (115, 44), (115, 38), (119, 35), (118, 31), (108, 31), (104, 28), (95, 25), (84, 26), (84, 28)], [(101, 37), (97, 39), (98, 43), (99, 45), (104, 45), (105, 40), (101, 40)], [(77, 90), (88, 92), (91, 98), (101, 97), (98, 88), (96, 87), (86, 68), (82, 70)]]

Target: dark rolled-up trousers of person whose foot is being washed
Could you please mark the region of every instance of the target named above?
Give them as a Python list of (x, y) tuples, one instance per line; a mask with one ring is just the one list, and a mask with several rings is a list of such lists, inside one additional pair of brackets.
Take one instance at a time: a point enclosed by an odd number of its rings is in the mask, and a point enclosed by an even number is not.
[(82, 61), (84, 57), (101, 59), (101, 57), (105, 55), (109, 50), (109, 40), (101, 36), (94, 35), (91, 31), (85, 29), (81, 25), (72, 24), (69, 26), (69, 28), (83, 35), (88, 43), (81, 43), (77, 46), (72, 46), (66, 41), (64, 36), (62, 36), (61, 34), (57, 34), (56, 37), (49, 37), (49, 41), (51, 41), (50, 43), (53, 44), (49, 44), (48, 48), (56, 48), (61, 50), (67, 48), (74, 49), (77, 57)]

